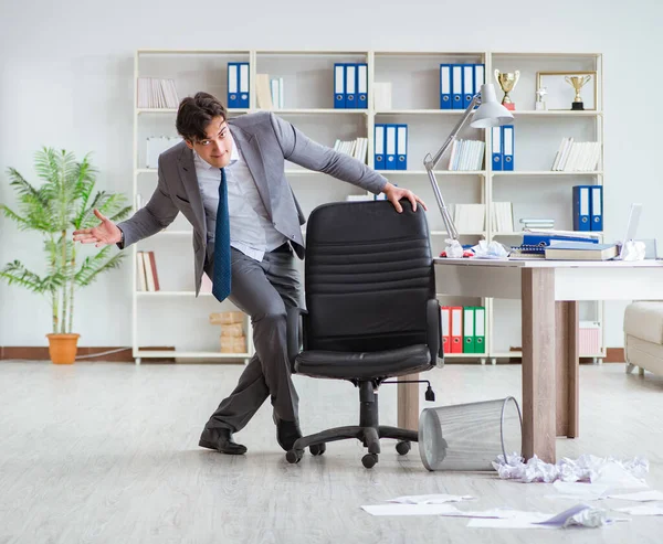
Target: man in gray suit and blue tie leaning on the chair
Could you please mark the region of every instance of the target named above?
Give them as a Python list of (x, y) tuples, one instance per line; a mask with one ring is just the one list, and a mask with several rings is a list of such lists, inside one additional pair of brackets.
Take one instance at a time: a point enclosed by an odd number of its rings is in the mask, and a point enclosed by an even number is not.
[(198, 93), (180, 103), (176, 126), (183, 141), (159, 157), (157, 189), (145, 207), (117, 225), (95, 210), (101, 224), (74, 232), (74, 239), (124, 249), (183, 213), (193, 226), (196, 296), (206, 271), (214, 296), (228, 297), (251, 317), (256, 352), (234, 391), (210, 417), (199, 445), (244, 454), (246, 448), (232, 435), (271, 397), (276, 439), (287, 451), (302, 436), (285, 316), (287, 307), (303, 303), (293, 250), (304, 258), (305, 218), (285, 178), (285, 161), (373, 194), (383, 192), (397, 212), (402, 212), (401, 199), (410, 200), (414, 209), (418, 202), (424, 209), (425, 204), (271, 113), (228, 119), (219, 100)]

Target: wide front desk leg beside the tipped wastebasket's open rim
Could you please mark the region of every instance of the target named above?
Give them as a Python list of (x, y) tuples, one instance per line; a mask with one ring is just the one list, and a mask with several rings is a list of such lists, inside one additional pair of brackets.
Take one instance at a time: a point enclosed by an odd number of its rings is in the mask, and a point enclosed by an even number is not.
[(555, 462), (555, 270), (523, 268), (523, 456)]

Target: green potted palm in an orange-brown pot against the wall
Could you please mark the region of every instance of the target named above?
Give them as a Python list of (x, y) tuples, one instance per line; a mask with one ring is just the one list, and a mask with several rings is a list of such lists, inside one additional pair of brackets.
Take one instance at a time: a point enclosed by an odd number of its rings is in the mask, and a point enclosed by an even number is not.
[(25, 287), (48, 298), (52, 308), (52, 332), (49, 339), (51, 361), (71, 364), (76, 358), (80, 334), (73, 333), (76, 290), (91, 285), (101, 273), (117, 268), (124, 257), (105, 246), (94, 255), (81, 258), (71, 231), (95, 226), (95, 215), (103, 213), (114, 221), (130, 212), (126, 198), (105, 191), (94, 193), (97, 170), (88, 154), (81, 162), (65, 150), (42, 148), (35, 153), (34, 167), (43, 181), (29, 183), (15, 169), (9, 168), (10, 186), (18, 196), (18, 211), (0, 204), (0, 210), (17, 222), (21, 231), (38, 231), (44, 239), (45, 273), (28, 270), (20, 260), (0, 269), (0, 278), (9, 285)]

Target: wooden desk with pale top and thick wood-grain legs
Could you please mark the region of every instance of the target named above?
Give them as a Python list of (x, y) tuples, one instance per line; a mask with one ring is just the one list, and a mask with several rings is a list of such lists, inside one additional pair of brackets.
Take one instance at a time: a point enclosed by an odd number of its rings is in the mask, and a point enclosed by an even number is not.
[[(439, 294), (520, 299), (523, 455), (548, 462), (556, 436), (579, 434), (578, 301), (663, 300), (661, 260), (435, 258), (434, 266)], [(399, 426), (415, 429), (419, 387), (399, 388)]]

